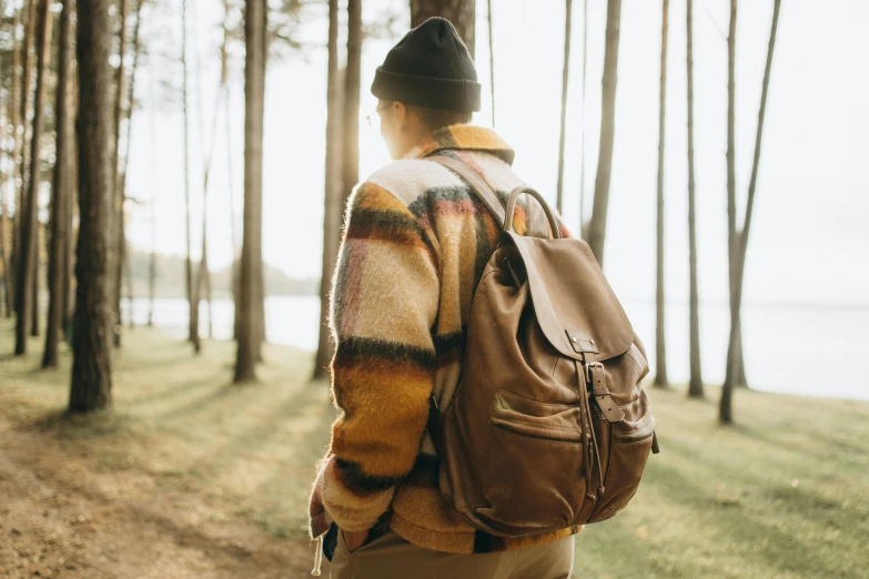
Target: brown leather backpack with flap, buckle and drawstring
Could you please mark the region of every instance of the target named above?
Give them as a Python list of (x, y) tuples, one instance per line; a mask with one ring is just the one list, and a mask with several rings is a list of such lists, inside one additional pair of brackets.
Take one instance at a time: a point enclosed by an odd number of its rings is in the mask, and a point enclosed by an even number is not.
[[(448, 407), (433, 405), (441, 490), (497, 536), (607, 519), (658, 451), (640, 384), (643, 344), (588, 245), (560, 238), (539, 193), (517, 187), (505, 211), (464, 163), (430, 159), (465, 180), (503, 224), (474, 295), (458, 390)], [(543, 206), (553, 238), (513, 231), (523, 193)]]

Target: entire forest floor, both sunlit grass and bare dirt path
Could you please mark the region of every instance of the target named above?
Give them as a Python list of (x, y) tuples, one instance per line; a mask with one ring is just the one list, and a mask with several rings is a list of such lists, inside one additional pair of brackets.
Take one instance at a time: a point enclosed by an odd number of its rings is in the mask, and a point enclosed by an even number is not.
[[(261, 382), (235, 387), (232, 344), (124, 341), (113, 409), (69, 417), (69, 354), (12, 358), (0, 322), (0, 577), (307, 577), (335, 416), (312, 356), (266, 346)], [(721, 428), (713, 402), (651, 398), (661, 454), (577, 536), (575, 577), (869, 577), (869, 403), (739, 390)]]

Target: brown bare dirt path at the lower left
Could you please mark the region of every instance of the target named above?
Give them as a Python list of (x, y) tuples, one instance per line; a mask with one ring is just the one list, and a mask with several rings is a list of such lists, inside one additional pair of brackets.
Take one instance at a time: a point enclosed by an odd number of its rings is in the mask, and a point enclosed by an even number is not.
[(140, 470), (99, 471), (0, 419), (0, 577), (310, 577), (311, 546), (226, 511)]

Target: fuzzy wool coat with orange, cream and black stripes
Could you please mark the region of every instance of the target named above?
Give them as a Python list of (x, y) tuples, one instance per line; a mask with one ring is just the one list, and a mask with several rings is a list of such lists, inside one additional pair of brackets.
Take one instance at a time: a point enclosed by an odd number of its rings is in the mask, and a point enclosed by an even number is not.
[[(504, 200), (523, 184), (513, 150), (493, 131), (453, 125), (353, 192), (331, 303), (340, 415), (311, 496), (311, 535), (333, 522), (350, 531), (388, 526), (421, 547), (466, 553), (565, 537), (576, 529), (489, 536), (438, 491), (428, 406), (432, 395), (448, 405), (456, 390), (473, 293), (499, 227), (467, 184), (424, 159), (433, 153), (461, 159)], [(525, 222), (521, 206), (517, 233)]]

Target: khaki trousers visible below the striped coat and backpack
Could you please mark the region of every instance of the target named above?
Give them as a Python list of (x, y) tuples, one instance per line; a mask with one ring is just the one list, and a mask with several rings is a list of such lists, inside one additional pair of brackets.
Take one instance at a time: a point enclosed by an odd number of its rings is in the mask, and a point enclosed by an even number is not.
[(332, 579), (569, 579), (574, 537), (504, 552), (455, 555), (416, 547), (395, 532), (350, 552), (338, 532)]

